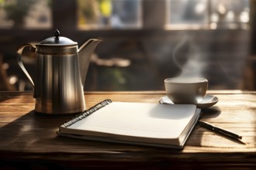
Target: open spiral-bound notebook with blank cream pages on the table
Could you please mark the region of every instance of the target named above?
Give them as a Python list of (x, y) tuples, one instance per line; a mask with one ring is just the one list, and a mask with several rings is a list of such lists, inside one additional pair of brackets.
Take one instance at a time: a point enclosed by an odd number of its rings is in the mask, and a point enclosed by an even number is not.
[(183, 148), (200, 110), (192, 104), (147, 104), (104, 100), (62, 124), (71, 138)]

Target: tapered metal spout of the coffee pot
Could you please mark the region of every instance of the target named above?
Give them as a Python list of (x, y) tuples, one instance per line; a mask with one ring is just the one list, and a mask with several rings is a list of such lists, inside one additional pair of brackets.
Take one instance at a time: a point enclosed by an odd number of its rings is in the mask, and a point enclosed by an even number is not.
[(81, 83), (83, 86), (85, 85), (85, 79), (92, 53), (96, 46), (98, 46), (99, 42), (102, 42), (102, 40), (88, 39), (88, 41), (78, 49), (79, 69), (81, 74)]

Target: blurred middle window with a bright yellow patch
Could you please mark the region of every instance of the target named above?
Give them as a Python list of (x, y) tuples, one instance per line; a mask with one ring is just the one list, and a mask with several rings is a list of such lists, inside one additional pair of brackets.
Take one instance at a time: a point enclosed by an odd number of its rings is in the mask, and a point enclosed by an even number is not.
[(78, 0), (79, 29), (140, 29), (141, 0)]

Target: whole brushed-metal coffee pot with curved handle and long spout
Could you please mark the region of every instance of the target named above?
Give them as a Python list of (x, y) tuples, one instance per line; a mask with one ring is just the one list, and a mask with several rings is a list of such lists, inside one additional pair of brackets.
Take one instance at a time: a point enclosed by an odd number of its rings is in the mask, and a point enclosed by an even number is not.
[[(85, 110), (84, 84), (90, 58), (99, 39), (88, 39), (79, 49), (78, 42), (60, 36), (36, 44), (22, 44), (17, 50), (20, 68), (33, 85), (35, 111), (45, 114), (74, 114)], [(36, 53), (34, 80), (22, 63), (25, 47)]]

